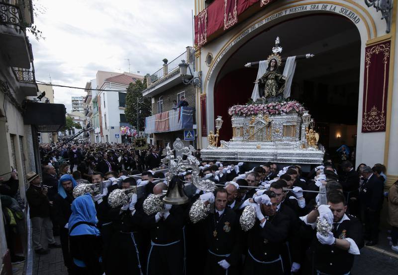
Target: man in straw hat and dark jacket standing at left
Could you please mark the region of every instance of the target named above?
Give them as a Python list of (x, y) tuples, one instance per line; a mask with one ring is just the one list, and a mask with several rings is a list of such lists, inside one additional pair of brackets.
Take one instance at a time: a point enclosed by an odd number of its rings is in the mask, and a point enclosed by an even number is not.
[(48, 190), (41, 186), (40, 176), (35, 172), (26, 174), (26, 180), (30, 183), (26, 191), (26, 199), (30, 207), (30, 219), (32, 220), (33, 247), (37, 254), (47, 254), (40, 243), (41, 231), (44, 228), (49, 247), (61, 247), (56, 243), (53, 235), (53, 224), (50, 219), (50, 202), (47, 198)]

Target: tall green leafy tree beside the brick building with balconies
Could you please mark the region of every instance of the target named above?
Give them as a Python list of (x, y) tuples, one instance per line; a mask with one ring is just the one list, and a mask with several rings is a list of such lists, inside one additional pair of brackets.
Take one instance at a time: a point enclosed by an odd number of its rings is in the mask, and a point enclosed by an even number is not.
[(142, 96), (142, 91), (145, 90), (145, 88), (146, 77), (144, 81), (137, 80), (135, 83), (130, 83), (127, 88), (126, 109), (124, 109), (124, 114), (126, 115), (127, 122), (134, 127), (137, 127), (138, 114), (138, 131), (145, 130), (145, 118), (149, 117), (152, 113), (151, 99)]

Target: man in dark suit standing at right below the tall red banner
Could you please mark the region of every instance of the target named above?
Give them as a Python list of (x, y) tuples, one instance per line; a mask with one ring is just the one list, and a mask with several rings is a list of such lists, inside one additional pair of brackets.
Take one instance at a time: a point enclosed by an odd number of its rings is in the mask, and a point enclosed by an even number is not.
[(367, 246), (377, 244), (379, 238), (380, 211), (383, 205), (383, 182), (373, 174), (372, 168), (361, 169), (364, 182), (359, 191), (361, 219), (365, 223)]

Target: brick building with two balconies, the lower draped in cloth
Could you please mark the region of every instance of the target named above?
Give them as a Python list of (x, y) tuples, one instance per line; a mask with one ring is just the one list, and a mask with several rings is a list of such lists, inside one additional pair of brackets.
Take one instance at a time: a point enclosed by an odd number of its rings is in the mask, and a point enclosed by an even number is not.
[[(193, 50), (187, 50), (171, 62), (164, 59), (163, 67), (148, 75), (147, 88), (142, 92), (143, 96), (152, 100), (152, 116), (145, 119), (145, 133), (150, 135), (150, 142), (154, 145), (166, 146), (174, 142), (176, 138), (184, 140), (184, 130), (196, 132), (196, 88), (194, 84), (184, 84), (179, 64), (186, 61), (193, 68)], [(173, 109), (184, 96), (189, 106)], [(196, 138), (192, 141), (184, 141), (186, 145), (196, 146)]]

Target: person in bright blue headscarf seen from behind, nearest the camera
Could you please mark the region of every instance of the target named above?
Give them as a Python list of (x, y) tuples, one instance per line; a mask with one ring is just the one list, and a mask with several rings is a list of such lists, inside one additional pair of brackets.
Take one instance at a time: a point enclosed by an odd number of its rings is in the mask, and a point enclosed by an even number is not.
[(97, 228), (97, 211), (89, 194), (76, 198), (69, 218), (70, 253), (77, 275), (103, 273), (100, 230)]

